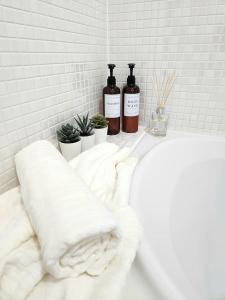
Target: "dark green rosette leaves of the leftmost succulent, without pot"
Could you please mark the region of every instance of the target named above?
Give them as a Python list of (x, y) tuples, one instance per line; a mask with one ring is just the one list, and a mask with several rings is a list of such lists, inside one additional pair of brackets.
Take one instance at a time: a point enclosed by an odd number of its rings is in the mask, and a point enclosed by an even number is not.
[(61, 143), (71, 144), (76, 143), (80, 140), (79, 131), (69, 123), (67, 123), (66, 125), (62, 125), (56, 133), (57, 138)]

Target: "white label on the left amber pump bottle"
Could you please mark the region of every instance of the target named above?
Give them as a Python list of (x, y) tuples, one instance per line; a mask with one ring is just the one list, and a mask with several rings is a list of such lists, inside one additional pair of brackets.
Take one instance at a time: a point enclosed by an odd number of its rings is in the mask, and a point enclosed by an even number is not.
[(105, 117), (106, 118), (120, 117), (120, 94), (116, 94), (116, 95), (105, 94)]

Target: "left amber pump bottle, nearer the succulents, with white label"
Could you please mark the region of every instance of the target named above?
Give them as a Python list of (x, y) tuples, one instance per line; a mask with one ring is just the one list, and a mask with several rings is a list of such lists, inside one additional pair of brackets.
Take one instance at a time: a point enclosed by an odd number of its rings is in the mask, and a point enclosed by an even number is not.
[(113, 76), (114, 64), (108, 64), (110, 76), (107, 86), (103, 89), (103, 111), (108, 121), (108, 134), (114, 135), (120, 132), (120, 89), (116, 86), (116, 78)]

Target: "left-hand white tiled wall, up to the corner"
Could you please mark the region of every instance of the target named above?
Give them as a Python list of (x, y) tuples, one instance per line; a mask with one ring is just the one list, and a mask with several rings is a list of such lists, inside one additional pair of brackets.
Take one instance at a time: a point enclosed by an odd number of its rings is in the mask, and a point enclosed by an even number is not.
[(19, 149), (98, 111), (106, 21), (105, 0), (0, 1), (0, 193), (17, 184)]

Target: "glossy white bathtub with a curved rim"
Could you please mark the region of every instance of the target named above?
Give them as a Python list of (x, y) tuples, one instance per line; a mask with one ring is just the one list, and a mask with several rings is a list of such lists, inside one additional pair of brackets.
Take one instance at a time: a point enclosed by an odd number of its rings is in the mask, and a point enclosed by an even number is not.
[[(140, 153), (145, 144), (149, 137)], [(137, 166), (130, 201), (144, 235), (123, 299), (224, 300), (225, 139), (155, 146)]]

